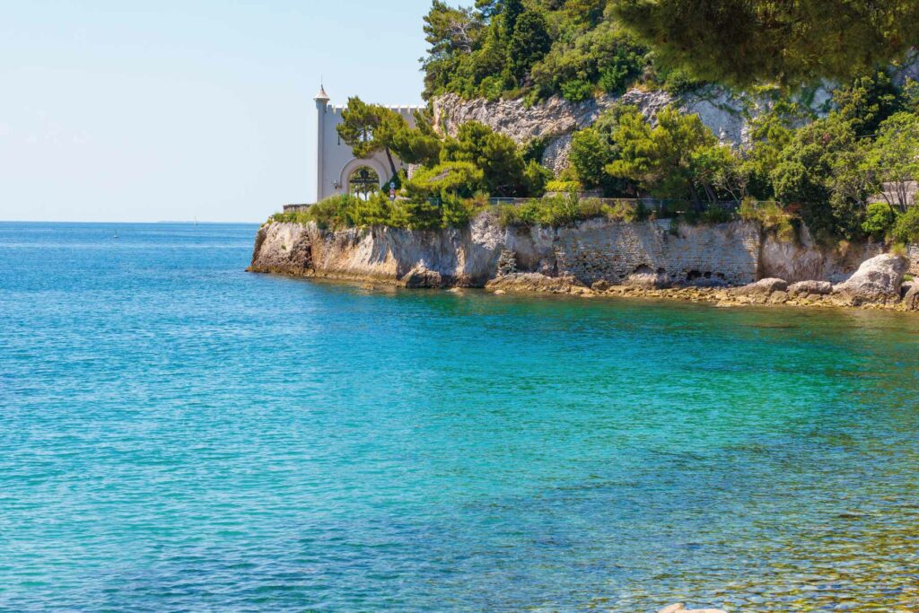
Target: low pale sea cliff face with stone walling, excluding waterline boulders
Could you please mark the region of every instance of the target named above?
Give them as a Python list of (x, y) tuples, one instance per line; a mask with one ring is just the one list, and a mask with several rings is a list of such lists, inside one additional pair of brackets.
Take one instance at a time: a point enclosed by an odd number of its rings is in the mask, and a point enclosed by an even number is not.
[[(255, 240), (255, 272), (380, 280), (413, 287), (482, 287), (494, 278), (538, 274), (591, 286), (741, 286), (761, 278), (840, 282), (879, 245), (827, 251), (806, 236), (783, 241), (758, 224), (672, 227), (670, 221), (582, 221), (561, 228), (501, 228), (483, 213), (469, 227), (324, 231), (267, 223)], [(532, 280), (533, 278), (528, 278)]]

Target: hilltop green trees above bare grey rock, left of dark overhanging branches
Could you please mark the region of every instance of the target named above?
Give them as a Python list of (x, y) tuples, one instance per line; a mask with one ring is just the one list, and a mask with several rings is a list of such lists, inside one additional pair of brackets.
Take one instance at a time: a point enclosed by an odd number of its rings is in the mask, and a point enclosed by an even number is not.
[[(585, 100), (624, 92), (653, 73), (648, 49), (614, 20), (607, 0), (486, 0), (476, 10), (437, 0), (425, 16), (425, 98), (551, 94)], [(562, 85), (567, 85), (562, 89)]]

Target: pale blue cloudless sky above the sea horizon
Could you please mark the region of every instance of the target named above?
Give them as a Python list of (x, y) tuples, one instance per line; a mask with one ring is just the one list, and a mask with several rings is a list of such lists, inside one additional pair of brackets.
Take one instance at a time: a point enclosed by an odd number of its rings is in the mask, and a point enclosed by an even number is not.
[(430, 0), (0, 0), (0, 220), (264, 221), (312, 97), (419, 104)]

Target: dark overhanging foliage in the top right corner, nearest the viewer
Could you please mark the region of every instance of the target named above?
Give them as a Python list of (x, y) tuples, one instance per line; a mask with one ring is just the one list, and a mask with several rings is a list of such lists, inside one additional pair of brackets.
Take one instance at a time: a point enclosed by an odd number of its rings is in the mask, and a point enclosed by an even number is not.
[(919, 43), (914, 0), (612, 0), (612, 8), (665, 65), (740, 87), (847, 80)]

